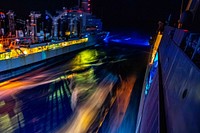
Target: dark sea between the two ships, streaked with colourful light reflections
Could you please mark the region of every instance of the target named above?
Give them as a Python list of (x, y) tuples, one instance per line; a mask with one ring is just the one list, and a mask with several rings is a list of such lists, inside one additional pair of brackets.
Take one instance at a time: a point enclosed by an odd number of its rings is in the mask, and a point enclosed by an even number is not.
[(0, 132), (134, 132), (148, 39), (111, 31), (106, 43), (0, 83)]

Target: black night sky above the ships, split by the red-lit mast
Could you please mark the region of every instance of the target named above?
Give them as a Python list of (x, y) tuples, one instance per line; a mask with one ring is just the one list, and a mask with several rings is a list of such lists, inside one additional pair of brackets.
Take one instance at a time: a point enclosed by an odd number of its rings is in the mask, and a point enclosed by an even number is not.
[[(93, 14), (102, 18), (105, 27), (155, 28), (159, 20), (165, 21), (170, 14), (177, 22), (181, 0), (91, 0)], [(19, 17), (29, 11), (54, 11), (72, 7), (76, 0), (3, 0), (0, 9), (14, 10)]]

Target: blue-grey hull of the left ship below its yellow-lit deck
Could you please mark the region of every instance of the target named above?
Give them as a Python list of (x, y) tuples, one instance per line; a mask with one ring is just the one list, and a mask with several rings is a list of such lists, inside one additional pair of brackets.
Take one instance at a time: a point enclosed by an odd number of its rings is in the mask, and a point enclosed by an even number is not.
[(91, 47), (96, 44), (94, 37), (89, 37), (88, 42), (70, 45), (54, 50), (42, 51), (35, 54), (0, 61), (0, 82), (22, 75), (45, 65), (53, 65), (67, 59), (69, 53)]

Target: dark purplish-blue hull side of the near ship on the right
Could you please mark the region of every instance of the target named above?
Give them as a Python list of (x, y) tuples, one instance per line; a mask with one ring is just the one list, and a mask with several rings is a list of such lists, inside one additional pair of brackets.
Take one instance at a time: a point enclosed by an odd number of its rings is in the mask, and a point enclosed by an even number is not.
[[(172, 31), (174, 34), (169, 34)], [(185, 34), (184, 30), (165, 27), (148, 93), (148, 70), (145, 77), (137, 133), (200, 132), (200, 70), (182, 49)]]

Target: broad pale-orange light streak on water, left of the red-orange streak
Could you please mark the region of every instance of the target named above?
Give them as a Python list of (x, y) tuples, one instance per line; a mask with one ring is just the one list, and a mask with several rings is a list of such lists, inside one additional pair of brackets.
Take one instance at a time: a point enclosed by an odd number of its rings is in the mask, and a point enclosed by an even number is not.
[[(95, 91), (88, 97), (87, 100), (85, 100), (82, 105), (77, 106), (70, 123), (68, 123), (67, 126), (60, 132), (87, 132), (95, 121), (96, 117), (102, 117), (101, 115), (103, 114), (101, 111), (104, 110), (101, 108), (104, 107), (104, 102), (109, 102), (105, 100), (109, 93), (112, 92), (113, 85), (116, 83), (116, 81), (117, 78), (114, 75), (108, 75), (99, 83), (99, 85), (93, 86)], [(98, 125), (96, 126), (98, 127)]]

